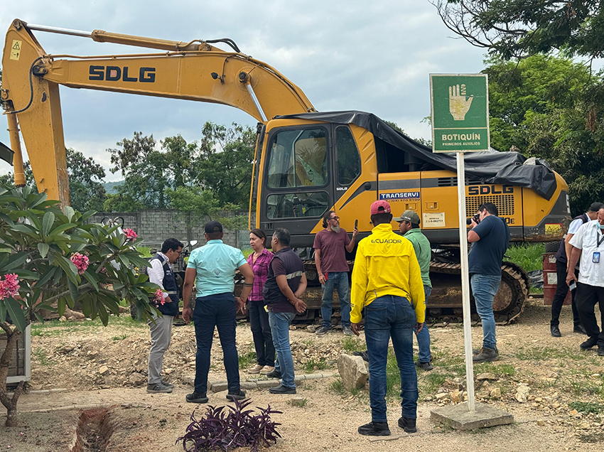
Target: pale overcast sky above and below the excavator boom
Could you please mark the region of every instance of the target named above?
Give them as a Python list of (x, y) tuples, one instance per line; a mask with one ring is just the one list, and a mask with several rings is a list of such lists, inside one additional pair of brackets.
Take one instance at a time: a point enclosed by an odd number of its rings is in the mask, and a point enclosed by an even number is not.
[[(243, 53), (292, 80), (319, 111), (358, 109), (429, 138), (428, 74), (473, 73), (483, 51), (451, 38), (427, 0), (154, 0), (0, 2), (0, 30), (20, 18), (38, 25), (102, 29), (174, 41), (231, 38)], [(90, 38), (34, 32), (48, 53), (145, 53)], [(4, 42), (4, 40), (3, 40)], [(134, 50), (133, 50), (134, 49)], [(226, 50), (226, 49), (225, 49)], [(232, 107), (62, 87), (65, 144), (109, 167), (106, 149), (134, 131), (156, 139), (199, 138), (204, 122), (255, 125)], [(0, 121), (6, 124), (2, 117)], [(0, 141), (9, 145), (4, 124)], [(0, 172), (11, 171), (0, 161)], [(107, 171), (107, 181), (119, 180)]]

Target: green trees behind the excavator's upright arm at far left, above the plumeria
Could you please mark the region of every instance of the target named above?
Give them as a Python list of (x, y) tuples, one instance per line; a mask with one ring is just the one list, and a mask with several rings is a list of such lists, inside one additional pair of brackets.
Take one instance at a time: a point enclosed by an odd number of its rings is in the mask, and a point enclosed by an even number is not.
[[(102, 210), (107, 195), (103, 187), (105, 171), (92, 157), (85, 157), (80, 151), (65, 149), (67, 160), (67, 172), (69, 176), (70, 205), (75, 210), (85, 212), (87, 210)], [(31, 164), (29, 161), (23, 163), (23, 173), (28, 187), (38, 193)], [(3, 174), (0, 176), (0, 185), (5, 188), (14, 186), (14, 174)]]

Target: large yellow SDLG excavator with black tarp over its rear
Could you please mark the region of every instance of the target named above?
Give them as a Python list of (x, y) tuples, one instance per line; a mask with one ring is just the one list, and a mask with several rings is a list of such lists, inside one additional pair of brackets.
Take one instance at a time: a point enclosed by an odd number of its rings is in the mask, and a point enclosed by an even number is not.
[[(155, 50), (129, 55), (49, 55), (33, 31)], [(215, 44), (227, 45), (230, 51)], [(313, 236), (322, 229), (322, 215), (335, 210), (341, 227), (348, 231), (358, 220), (360, 239), (371, 231), (370, 204), (385, 199), (396, 215), (415, 210), (433, 246), (434, 287), (428, 316), (435, 321), (461, 318), (454, 156), (433, 154), (373, 114), (317, 112), (293, 82), (241, 53), (227, 38), (166, 41), (15, 20), (6, 33), (2, 68), (1, 98), (17, 186), (26, 183), (20, 127), (38, 190), (69, 204), (59, 85), (237, 107), (258, 121), (249, 225), (255, 210), (255, 227), (268, 234), (276, 227), (291, 232), (291, 244), (306, 258), (308, 280), (316, 288), (306, 295), (309, 316), (320, 307), (311, 247)], [(467, 217), (480, 204), (491, 202), (508, 223), (512, 240), (561, 239), (570, 218), (568, 186), (546, 162), (490, 151), (466, 154), (465, 168)], [(392, 227), (397, 230), (396, 223)], [(494, 306), (498, 322), (519, 316), (528, 287), (527, 274), (505, 262)]]

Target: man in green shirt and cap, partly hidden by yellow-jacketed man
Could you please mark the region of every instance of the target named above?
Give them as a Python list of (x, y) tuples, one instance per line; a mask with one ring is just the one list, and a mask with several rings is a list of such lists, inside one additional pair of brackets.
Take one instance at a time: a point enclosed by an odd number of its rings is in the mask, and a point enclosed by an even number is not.
[[(424, 284), (424, 294), (426, 296), (426, 304), (428, 303), (428, 297), (432, 292), (432, 283), (430, 281), (430, 260), (432, 258), (432, 249), (430, 242), (426, 236), (419, 229), (419, 215), (413, 210), (405, 210), (403, 215), (398, 218), (394, 218), (394, 221), (399, 222), (399, 230), (403, 237), (405, 237), (413, 245), (417, 261), (419, 262), (419, 269), (421, 271), (421, 282)], [(430, 333), (428, 333), (428, 325), (424, 323), (424, 328), (421, 328), (419, 332), (417, 328), (414, 328), (415, 335), (417, 338), (417, 345), (419, 346), (418, 360), (416, 366), (423, 370), (432, 370), (432, 356), (430, 353)]]

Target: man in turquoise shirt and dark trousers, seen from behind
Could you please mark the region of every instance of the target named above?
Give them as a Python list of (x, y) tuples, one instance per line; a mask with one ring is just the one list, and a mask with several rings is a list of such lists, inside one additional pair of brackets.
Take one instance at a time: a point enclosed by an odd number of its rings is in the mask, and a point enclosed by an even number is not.
[[(204, 247), (191, 252), (185, 271), (183, 286), (183, 320), (191, 319), (189, 301), (195, 279), (197, 282), (197, 297), (195, 298), (195, 390), (187, 394), (187, 402), (203, 404), (207, 398), (207, 372), (210, 370), (210, 350), (214, 328), (218, 329), (220, 345), (224, 355), (225, 370), (230, 401), (244, 399), (245, 393), (239, 387), (239, 357), (235, 345), (235, 328), (237, 327), (237, 311), (244, 311), (245, 302), (254, 283), (252, 267), (243, 257), (241, 250), (230, 247), (222, 242), (222, 225), (217, 221), (205, 225)], [(241, 296), (235, 298), (234, 276), (239, 269), (245, 278)]]

